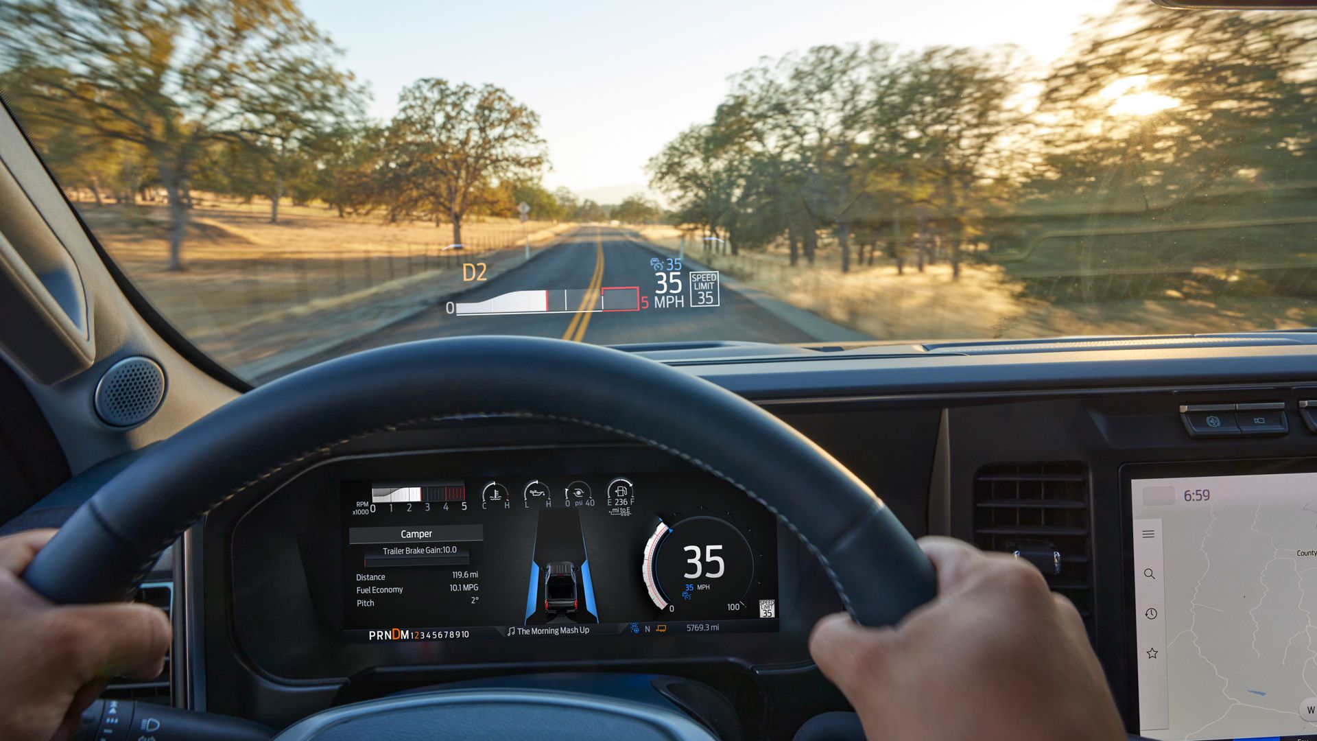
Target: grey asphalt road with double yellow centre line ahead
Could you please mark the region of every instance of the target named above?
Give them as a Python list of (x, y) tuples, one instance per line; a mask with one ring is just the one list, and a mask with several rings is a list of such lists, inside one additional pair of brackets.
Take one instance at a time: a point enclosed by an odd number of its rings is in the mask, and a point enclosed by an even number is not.
[[(446, 305), (435, 306), (396, 322), (370, 336), (344, 343), (327, 355), (346, 355), (371, 347), (444, 338), (454, 335), (533, 335), (593, 344), (628, 344), (691, 340), (743, 340), (768, 343), (805, 343), (836, 338), (813, 336), (795, 322), (764, 307), (765, 299), (751, 301), (731, 290), (720, 289), (720, 306), (693, 307), (689, 286), (690, 268), (682, 270), (685, 306), (656, 309), (658, 281), (651, 258), (666, 257), (626, 237), (620, 229), (583, 227), (568, 240), (545, 248), (512, 270), (473, 282), (473, 289), (454, 297), (458, 302), (481, 302), (508, 291), (551, 291), (551, 309), (568, 306), (568, 311), (503, 315), (449, 314)], [(640, 311), (579, 311), (601, 309), (603, 299), (591, 295), (607, 293), (610, 286), (639, 286), (639, 295), (648, 298), (649, 309)], [(562, 291), (568, 294), (564, 295)], [(618, 301), (622, 294), (610, 294)], [(562, 298), (560, 298), (562, 297)], [(578, 299), (578, 297), (581, 297)], [(795, 310), (799, 311), (799, 310)]]

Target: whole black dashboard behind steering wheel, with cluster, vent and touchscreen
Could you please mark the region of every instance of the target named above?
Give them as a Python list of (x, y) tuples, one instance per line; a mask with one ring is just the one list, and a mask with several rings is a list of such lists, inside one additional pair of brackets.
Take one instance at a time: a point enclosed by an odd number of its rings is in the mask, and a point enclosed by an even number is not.
[[(1317, 434), (1301, 403), (1317, 384), (1284, 355), (1270, 378), (1227, 352), (839, 355), (662, 359), (801, 430), (915, 535), (1038, 563), (1080, 608), (1131, 733), (1317, 729), (1304, 717), (1317, 717), (1317, 589), (1304, 588)], [(1205, 407), (1231, 409), (1237, 431), (1200, 434), (1216, 430)], [(1264, 423), (1246, 432), (1241, 414)], [(827, 505), (826, 490), (809, 496)], [(205, 692), (212, 712), (279, 724), (428, 684), (572, 671), (702, 682), (763, 737), (847, 707), (809, 661), (810, 629), (842, 605), (798, 538), (726, 481), (598, 430), (395, 430), (233, 504), (182, 550), (205, 625), (188, 632), (205, 657), (198, 682), (225, 688)]]

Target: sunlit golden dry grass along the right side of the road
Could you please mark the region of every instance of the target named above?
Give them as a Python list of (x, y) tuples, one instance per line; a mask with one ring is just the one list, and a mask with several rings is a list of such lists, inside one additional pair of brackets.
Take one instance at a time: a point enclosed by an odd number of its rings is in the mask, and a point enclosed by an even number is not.
[[(680, 249), (672, 227), (639, 227), (647, 240)], [(1040, 338), (1289, 330), (1312, 326), (1313, 303), (1274, 295), (1193, 295), (1054, 303), (1031, 298), (1000, 265), (961, 264), (959, 280), (944, 262), (898, 274), (889, 260), (839, 269), (823, 244), (815, 265), (792, 268), (782, 249), (738, 256), (686, 240), (686, 254), (756, 289), (876, 339)]]

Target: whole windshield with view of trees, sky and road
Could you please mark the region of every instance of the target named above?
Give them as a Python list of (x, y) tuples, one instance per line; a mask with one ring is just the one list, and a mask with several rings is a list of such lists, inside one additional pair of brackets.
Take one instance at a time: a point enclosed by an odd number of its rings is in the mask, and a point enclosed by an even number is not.
[(259, 382), (424, 338), (1317, 324), (1314, 15), (9, 0), (105, 251)]

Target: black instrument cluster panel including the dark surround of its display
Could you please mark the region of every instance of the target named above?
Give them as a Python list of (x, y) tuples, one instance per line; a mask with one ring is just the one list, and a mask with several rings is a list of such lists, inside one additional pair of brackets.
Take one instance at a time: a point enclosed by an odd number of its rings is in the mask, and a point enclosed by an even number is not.
[[(840, 604), (776, 517), (677, 458), (558, 432), (494, 448), (465, 423), (395, 435), (252, 502), (223, 546), (246, 659), (283, 682), (807, 659), (810, 628)], [(466, 447), (398, 450), (427, 442)]]

